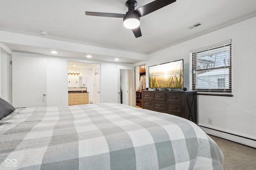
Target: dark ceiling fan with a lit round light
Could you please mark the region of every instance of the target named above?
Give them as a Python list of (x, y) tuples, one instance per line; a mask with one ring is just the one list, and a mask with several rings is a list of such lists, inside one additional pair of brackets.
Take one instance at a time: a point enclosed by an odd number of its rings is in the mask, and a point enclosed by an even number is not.
[(88, 16), (101, 16), (101, 17), (113, 17), (113, 18), (123, 18), (124, 27), (132, 29), (135, 37), (141, 37), (140, 31), (140, 17), (150, 14), (164, 6), (172, 4), (176, 0), (155, 0), (146, 4), (135, 10), (137, 6), (136, 0), (126, 1), (126, 6), (128, 7), (128, 12), (126, 14), (113, 14), (113, 13), (101, 13), (101, 12), (85, 12)]

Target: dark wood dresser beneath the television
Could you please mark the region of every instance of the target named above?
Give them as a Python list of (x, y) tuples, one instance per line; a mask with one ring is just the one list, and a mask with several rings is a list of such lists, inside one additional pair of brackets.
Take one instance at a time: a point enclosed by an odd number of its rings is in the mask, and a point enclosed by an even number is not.
[(142, 108), (183, 117), (197, 124), (197, 92), (142, 90)]

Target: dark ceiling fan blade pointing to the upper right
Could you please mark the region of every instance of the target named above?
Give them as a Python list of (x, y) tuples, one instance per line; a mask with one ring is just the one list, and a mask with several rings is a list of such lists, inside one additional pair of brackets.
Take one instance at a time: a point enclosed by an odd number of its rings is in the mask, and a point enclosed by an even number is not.
[(160, 8), (163, 8), (169, 4), (172, 4), (173, 2), (176, 2), (176, 0), (155, 0), (153, 2), (150, 2), (149, 4), (146, 4), (136, 9), (134, 13), (138, 14), (139, 17), (142, 17), (147, 14), (150, 14), (151, 12), (159, 10)]

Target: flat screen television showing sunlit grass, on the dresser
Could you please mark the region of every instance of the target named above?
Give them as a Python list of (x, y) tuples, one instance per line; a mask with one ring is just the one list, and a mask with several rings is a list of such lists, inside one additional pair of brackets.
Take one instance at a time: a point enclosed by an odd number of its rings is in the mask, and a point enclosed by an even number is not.
[(148, 67), (149, 88), (183, 88), (183, 59)]

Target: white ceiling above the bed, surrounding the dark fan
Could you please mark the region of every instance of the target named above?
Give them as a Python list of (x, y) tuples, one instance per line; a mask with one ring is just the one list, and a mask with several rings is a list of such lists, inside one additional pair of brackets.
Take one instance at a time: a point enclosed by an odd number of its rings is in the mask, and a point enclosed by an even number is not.
[[(137, 0), (137, 8), (153, 0)], [(140, 18), (142, 37), (124, 28), (122, 18), (86, 16), (85, 11), (125, 14), (126, 0), (0, 0), (0, 30), (74, 41), (142, 54), (256, 16), (256, 0), (177, 0)], [(202, 25), (187, 29), (195, 23)], [(40, 30), (48, 32), (40, 35)], [(1, 37), (0, 37), (1, 42)], [(5, 43), (5, 42), (3, 42)], [(15, 52), (46, 54), (42, 47), (6, 45)], [(93, 54), (92, 54), (93, 55)], [(58, 56), (84, 58), (85, 53), (59, 51)], [(95, 55), (93, 60), (113, 61)], [(126, 58), (122, 63), (140, 59)]]

